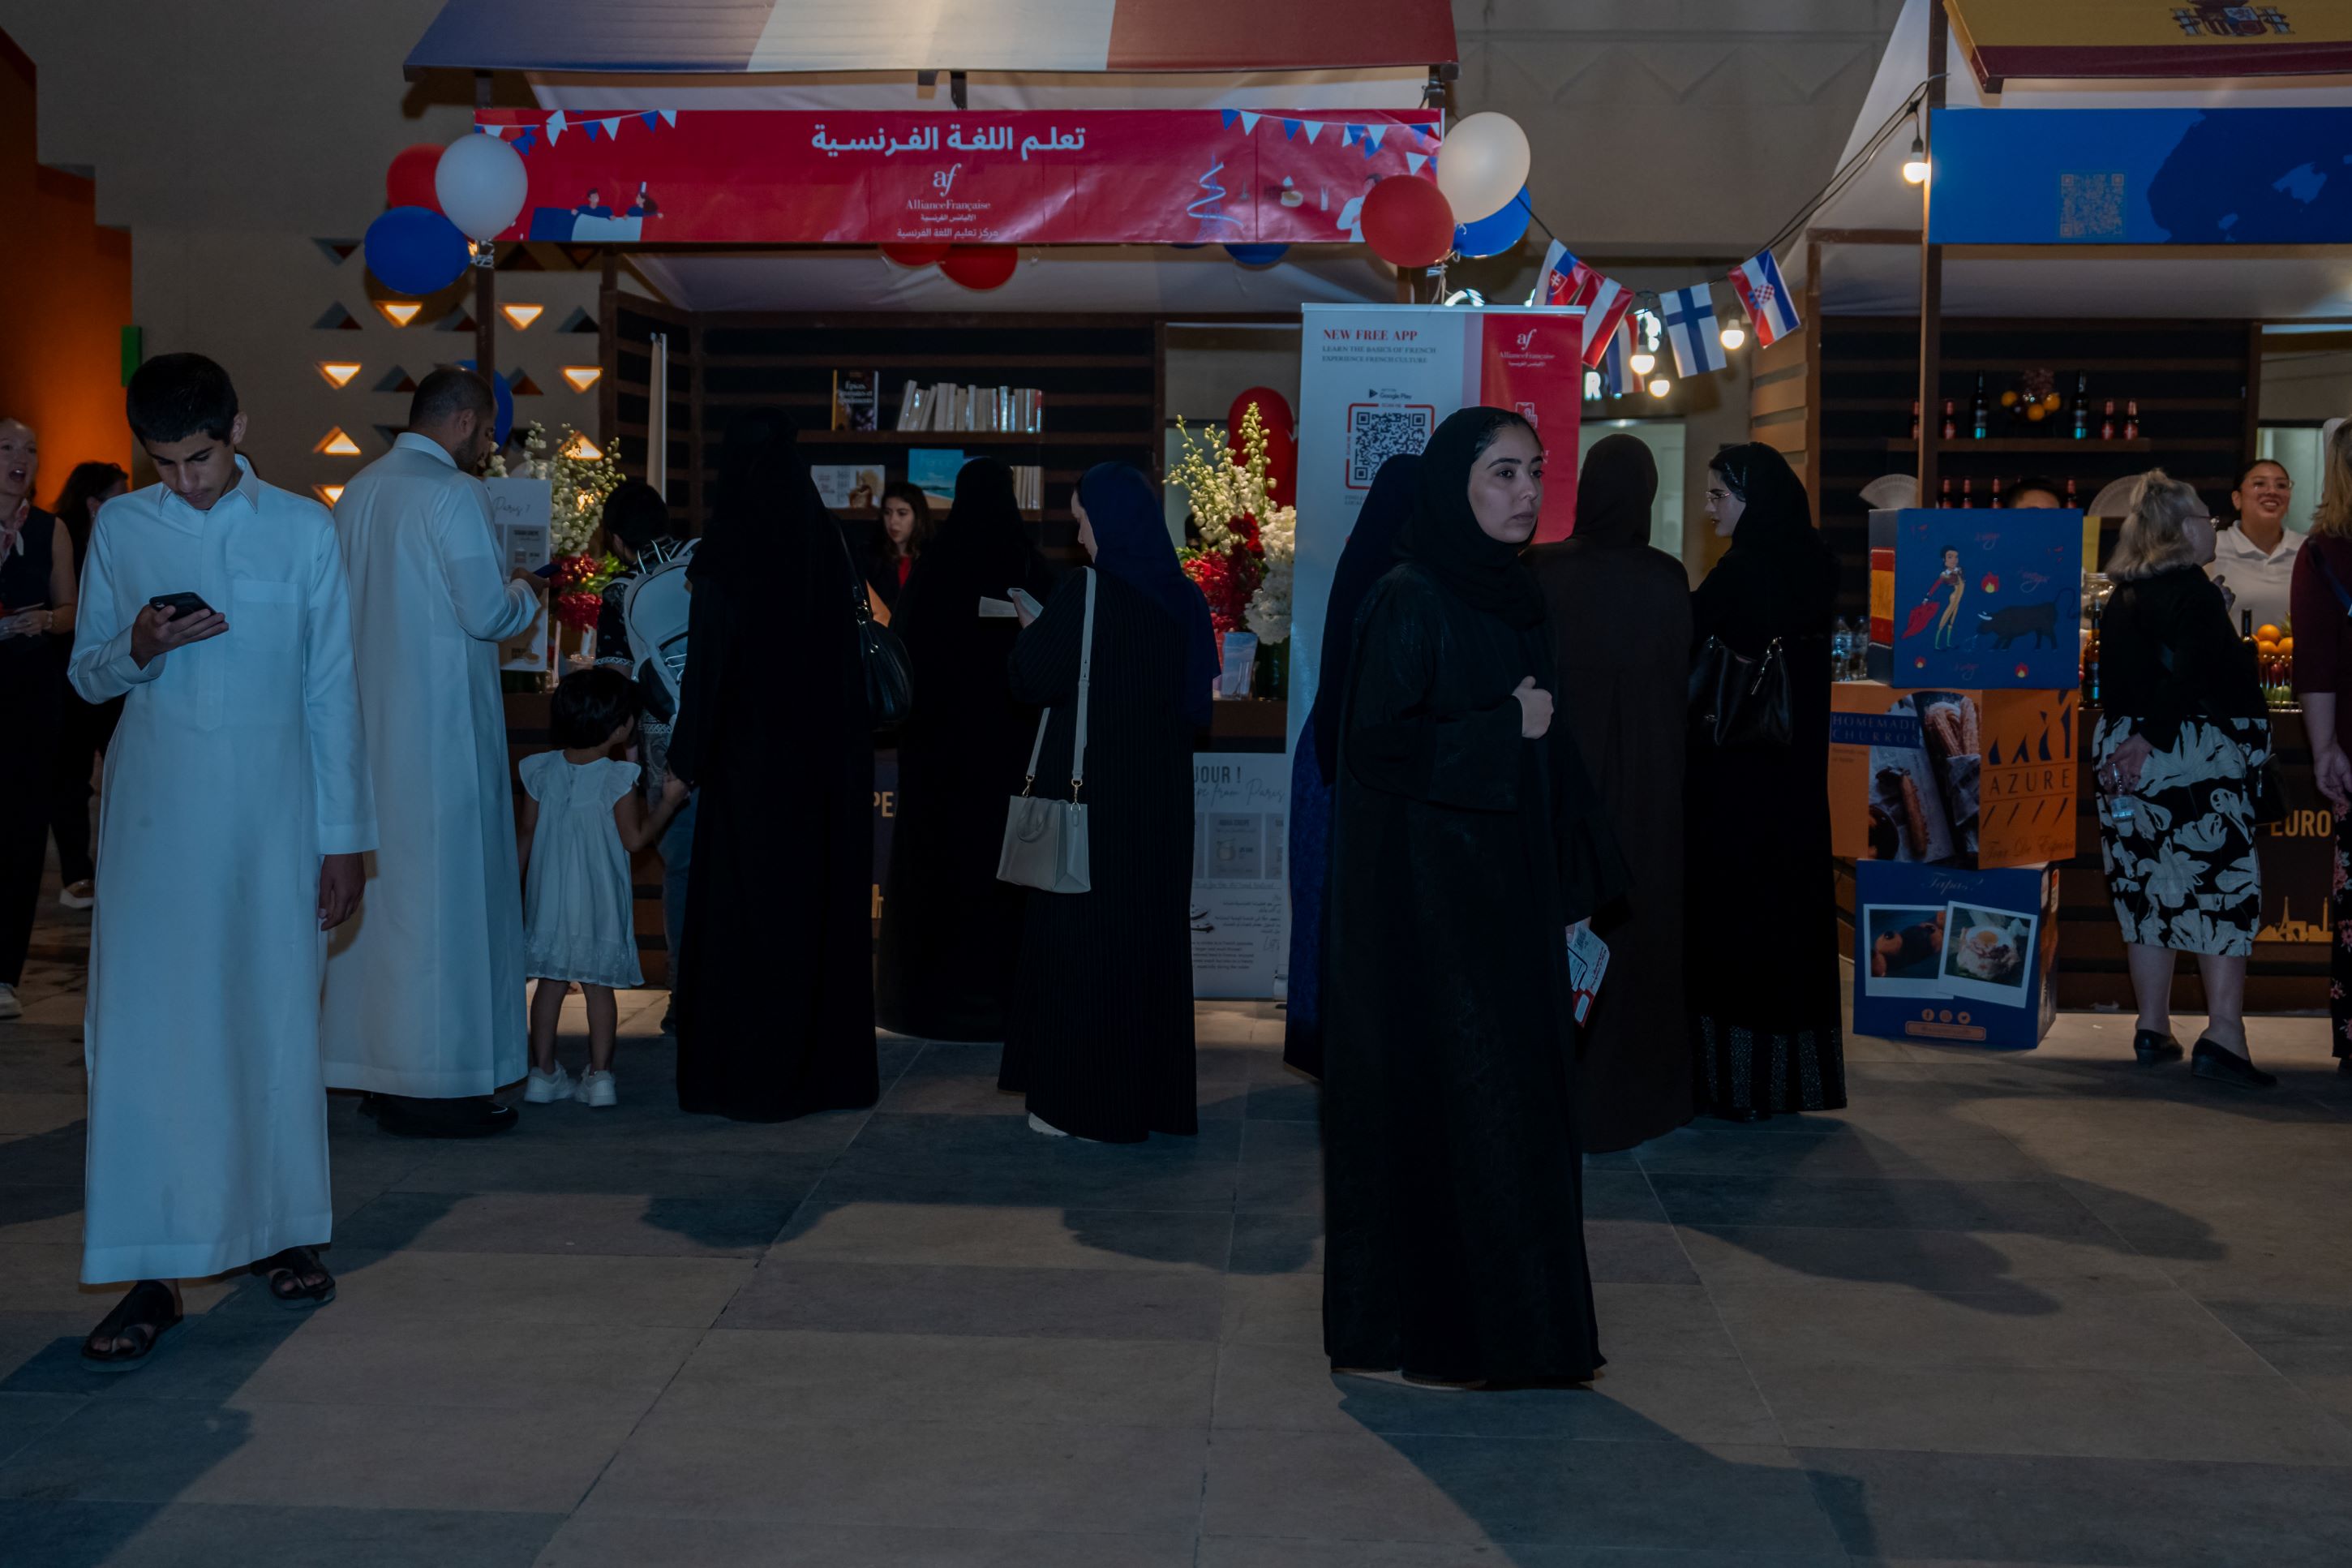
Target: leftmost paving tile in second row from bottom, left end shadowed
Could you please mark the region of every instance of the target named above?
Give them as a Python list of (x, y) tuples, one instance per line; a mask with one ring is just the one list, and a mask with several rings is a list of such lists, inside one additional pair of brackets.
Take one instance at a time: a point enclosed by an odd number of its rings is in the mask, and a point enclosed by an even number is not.
[(0, 1497), (562, 1514), (633, 1425), (576, 1408), (94, 1399), (0, 1465)]

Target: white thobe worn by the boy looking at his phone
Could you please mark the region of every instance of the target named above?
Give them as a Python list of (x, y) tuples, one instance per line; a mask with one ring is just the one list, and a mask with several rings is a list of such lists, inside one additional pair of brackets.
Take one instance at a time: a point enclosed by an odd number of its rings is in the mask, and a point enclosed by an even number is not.
[[(73, 689), (129, 693), (99, 797), (82, 1281), (191, 1279), (329, 1239), (320, 856), (376, 844), (327, 508), (245, 458), (209, 512), (162, 484), (89, 534)], [(132, 663), (198, 592), (228, 632)]]

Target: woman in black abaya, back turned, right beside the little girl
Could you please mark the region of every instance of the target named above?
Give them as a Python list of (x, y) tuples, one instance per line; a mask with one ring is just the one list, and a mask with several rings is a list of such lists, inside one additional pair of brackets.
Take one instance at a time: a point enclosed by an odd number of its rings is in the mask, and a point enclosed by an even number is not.
[(788, 1121), (880, 1095), (866, 585), (790, 421), (736, 421), (694, 564), (670, 771), (694, 785), (677, 1105)]

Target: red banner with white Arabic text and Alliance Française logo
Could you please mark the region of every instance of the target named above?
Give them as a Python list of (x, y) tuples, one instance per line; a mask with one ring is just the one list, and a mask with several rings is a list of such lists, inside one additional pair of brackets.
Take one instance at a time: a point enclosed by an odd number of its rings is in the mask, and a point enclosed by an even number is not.
[(1437, 110), (501, 110), (529, 197), (501, 240), (1341, 244), (1437, 179)]

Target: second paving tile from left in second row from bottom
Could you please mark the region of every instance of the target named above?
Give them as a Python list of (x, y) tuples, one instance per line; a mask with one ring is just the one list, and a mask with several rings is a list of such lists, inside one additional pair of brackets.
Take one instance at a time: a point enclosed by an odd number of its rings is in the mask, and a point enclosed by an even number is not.
[(654, 1413), (581, 1516), (1178, 1535), (1200, 1516), (1204, 1455), (1204, 1432), (1169, 1427), (739, 1429)]

